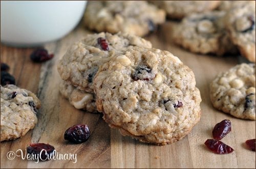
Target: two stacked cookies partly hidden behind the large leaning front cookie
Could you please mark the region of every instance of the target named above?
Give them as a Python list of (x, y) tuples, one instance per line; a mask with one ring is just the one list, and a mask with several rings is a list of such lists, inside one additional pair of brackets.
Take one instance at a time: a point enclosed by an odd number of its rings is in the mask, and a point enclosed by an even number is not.
[(63, 79), (60, 93), (75, 108), (97, 112), (93, 79), (99, 66), (108, 62), (113, 55), (134, 46), (151, 48), (152, 44), (124, 33), (99, 33), (84, 37), (68, 49), (58, 64), (58, 72)]

